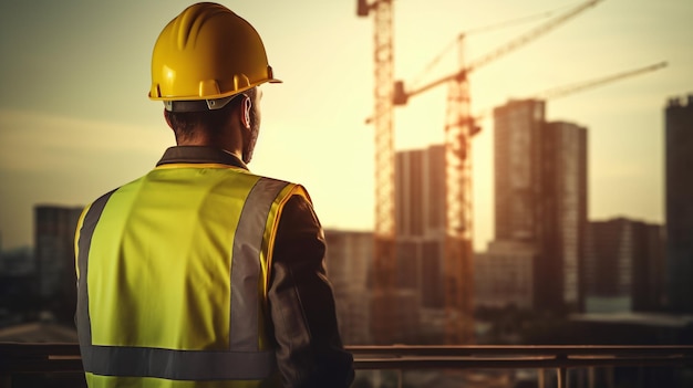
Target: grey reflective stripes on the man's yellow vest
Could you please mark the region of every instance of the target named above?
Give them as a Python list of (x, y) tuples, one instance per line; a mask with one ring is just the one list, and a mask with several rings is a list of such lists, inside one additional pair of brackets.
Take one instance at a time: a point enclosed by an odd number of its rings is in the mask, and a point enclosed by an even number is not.
[[(291, 186), (290, 190), (285, 190)], [(258, 290), (262, 276), (260, 255), (268, 249), (269, 233), (276, 224), (268, 226), (270, 218), (278, 218), (283, 202), (278, 197), (300, 187), (273, 179), (259, 178), (250, 189), (240, 212), (232, 245), (230, 269), (230, 319), (229, 344), (225, 350), (167, 349), (141, 346), (104, 346), (92, 342), (89, 304), (89, 252), (92, 237), (112, 191), (97, 199), (85, 210), (76, 241), (77, 250), (77, 328), (84, 369), (103, 376), (156, 377), (172, 380), (260, 380), (276, 370), (272, 349), (259, 348), (258, 322), (263, 301)], [(285, 198), (285, 199), (286, 199)], [(219, 210), (221, 211), (221, 209)], [(273, 235), (272, 235), (273, 239)], [(269, 242), (271, 244), (271, 241)], [(250, 317), (250, 318), (249, 318)], [(122, 317), (127, 319), (127, 317)]]

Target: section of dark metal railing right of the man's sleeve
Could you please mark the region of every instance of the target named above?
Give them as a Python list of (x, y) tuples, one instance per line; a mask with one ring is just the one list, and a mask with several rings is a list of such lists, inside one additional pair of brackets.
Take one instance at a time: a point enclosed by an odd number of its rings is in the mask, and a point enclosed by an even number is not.
[(693, 346), (352, 346), (356, 369), (537, 369), (556, 371), (567, 387), (569, 369), (604, 367), (693, 367)]

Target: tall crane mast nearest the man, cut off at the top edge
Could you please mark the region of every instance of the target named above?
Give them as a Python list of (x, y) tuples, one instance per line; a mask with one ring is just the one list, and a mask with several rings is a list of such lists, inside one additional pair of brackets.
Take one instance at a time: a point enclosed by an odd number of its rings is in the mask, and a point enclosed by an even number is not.
[(372, 12), (374, 20), (375, 226), (371, 329), (376, 344), (391, 344), (394, 340), (391, 325), (396, 322), (392, 0), (371, 4), (358, 0), (356, 6), (359, 17)]

